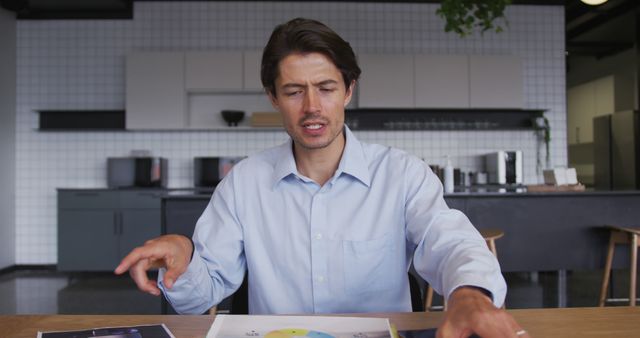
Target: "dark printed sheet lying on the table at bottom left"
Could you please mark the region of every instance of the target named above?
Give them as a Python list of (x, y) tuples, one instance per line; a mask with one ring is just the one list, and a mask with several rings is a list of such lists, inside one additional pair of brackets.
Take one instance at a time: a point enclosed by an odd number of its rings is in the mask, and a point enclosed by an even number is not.
[(37, 338), (175, 338), (164, 324), (38, 332)]

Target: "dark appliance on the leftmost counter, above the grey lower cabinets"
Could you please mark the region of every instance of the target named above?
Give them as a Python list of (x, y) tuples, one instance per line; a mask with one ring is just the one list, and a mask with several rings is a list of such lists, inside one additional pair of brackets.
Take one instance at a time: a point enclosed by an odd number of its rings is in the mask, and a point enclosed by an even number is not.
[(107, 158), (107, 186), (109, 188), (166, 188), (167, 159), (109, 157)]

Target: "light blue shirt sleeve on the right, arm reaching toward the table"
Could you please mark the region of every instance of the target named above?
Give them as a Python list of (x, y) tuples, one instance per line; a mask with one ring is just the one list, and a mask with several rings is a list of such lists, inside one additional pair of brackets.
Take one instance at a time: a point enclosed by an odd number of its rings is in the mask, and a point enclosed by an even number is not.
[(446, 300), (461, 286), (475, 286), (502, 306), (507, 287), (498, 260), (469, 219), (447, 206), (429, 166), (416, 162), (407, 164), (405, 175), (407, 241), (416, 271)]

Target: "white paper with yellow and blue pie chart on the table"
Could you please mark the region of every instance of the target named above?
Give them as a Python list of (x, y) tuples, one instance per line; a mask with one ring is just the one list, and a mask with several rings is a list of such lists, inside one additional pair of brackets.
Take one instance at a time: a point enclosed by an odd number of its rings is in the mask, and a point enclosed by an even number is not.
[(391, 338), (387, 318), (217, 315), (207, 338)]

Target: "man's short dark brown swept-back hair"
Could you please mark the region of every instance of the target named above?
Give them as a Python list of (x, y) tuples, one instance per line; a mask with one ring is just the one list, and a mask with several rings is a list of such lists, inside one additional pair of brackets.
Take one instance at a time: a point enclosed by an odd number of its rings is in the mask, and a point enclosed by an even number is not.
[(323, 54), (340, 70), (347, 89), (360, 76), (360, 67), (348, 42), (319, 21), (296, 18), (276, 26), (262, 53), (260, 78), (273, 96), (280, 61), (293, 53)]

